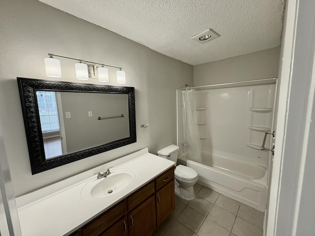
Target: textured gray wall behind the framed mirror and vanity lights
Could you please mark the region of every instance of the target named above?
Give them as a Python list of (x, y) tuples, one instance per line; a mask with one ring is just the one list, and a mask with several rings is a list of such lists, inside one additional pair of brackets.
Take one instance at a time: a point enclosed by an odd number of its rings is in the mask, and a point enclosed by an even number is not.
[[(176, 89), (192, 84), (191, 65), (37, 0), (1, 0), (0, 16), (0, 120), (16, 196), (141, 148), (156, 153), (176, 144)], [(137, 143), (32, 176), (16, 77), (51, 80), (45, 76), (47, 53), (123, 67), (126, 86), (135, 87)], [(61, 60), (58, 80), (77, 82), (74, 63)], [(115, 72), (109, 69), (109, 85), (117, 85)]]

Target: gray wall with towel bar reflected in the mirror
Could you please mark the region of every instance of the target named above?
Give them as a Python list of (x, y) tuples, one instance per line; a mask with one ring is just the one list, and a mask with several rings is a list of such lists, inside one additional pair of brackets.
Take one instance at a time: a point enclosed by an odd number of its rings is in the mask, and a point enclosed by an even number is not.
[[(61, 92), (61, 100), (65, 131), (62, 137), (66, 138), (67, 152), (129, 137), (127, 94)], [(70, 112), (71, 118), (66, 118), (66, 112)], [(97, 119), (119, 115), (124, 117)]]

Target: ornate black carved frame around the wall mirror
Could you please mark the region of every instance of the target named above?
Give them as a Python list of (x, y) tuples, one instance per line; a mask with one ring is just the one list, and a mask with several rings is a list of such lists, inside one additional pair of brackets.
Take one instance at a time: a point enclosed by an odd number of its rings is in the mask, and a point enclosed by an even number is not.
[[(135, 97), (133, 87), (116, 87), (107, 85), (78, 84), (62, 81), (48, 81), (38, 79), (17, 78), (22, 112), (24, 118), (26, 138), (28, 142), (32, 175), (62, 166), (95, 154), (120, 148), (135, 143), (136, 119)], [(128, 94), (129, 103), (129, 138), (113, 141), (104, 145), (68, 153), (52, 159), (45, 159), (43, 137), (39, 122), (36, 90), (46, 91), (75, 91)]]

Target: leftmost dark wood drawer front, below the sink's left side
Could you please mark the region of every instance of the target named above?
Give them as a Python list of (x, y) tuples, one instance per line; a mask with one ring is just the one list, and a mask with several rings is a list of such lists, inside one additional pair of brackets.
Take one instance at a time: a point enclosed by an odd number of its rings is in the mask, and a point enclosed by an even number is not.
[(126, 201), (124, 200), (98, 216), (87, 226), (84, 226), (82, 229), (82, 236), (98, 236), (125, 215), (126, 210)]

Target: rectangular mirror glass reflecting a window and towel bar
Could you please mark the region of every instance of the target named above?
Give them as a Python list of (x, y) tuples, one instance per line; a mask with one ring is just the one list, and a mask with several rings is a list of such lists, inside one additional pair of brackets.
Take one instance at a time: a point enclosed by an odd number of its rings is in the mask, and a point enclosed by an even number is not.
[(129, 137), (128, 95), (37, 90), (45, 159)]

